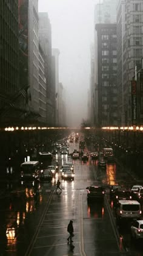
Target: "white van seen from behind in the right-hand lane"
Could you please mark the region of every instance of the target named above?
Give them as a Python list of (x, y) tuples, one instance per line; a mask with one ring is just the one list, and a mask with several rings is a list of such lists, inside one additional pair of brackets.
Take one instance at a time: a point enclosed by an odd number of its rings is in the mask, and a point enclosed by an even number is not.
[(134, 200), (119, 200), (116, 216), (121, 219), (140, 219), (142, 215), (141, 204)]

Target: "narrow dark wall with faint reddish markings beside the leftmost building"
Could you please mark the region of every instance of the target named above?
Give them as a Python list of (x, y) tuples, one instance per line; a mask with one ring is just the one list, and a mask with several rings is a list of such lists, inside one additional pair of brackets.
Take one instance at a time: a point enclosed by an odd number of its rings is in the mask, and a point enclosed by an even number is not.
[(28, 86), (28, 0), (18, 0), (19, 85)]

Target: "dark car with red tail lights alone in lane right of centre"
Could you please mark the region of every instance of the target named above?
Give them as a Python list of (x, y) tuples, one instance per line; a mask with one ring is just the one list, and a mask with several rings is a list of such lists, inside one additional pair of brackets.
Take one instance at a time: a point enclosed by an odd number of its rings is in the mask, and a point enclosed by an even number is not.
[(102, 186), (90, 186), (87, 187), (87, 200), (90, 199), (103, 201), (104, 200), (104, 188)]

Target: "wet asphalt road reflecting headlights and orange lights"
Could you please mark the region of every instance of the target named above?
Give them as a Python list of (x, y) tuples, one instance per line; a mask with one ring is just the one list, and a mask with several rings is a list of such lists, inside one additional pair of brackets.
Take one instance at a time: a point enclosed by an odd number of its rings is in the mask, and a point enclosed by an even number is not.
[[(74, 144), (71, 146), (74, 148)], [(59, 165), (67, 161), (71, 159), (58, 155)], [(57, 179), (41, 183), (36, 197), (30, 183), (9, 184), (1, 197), (1, 256), (142, 255), (141, 244), (131, 243), (128, 229), (116, 226), (108, 194), (110, 184), (127, 183), (130, 187), (133, 177), (117, 165), (101, 170), (96, 160), (74, 163), (75, 181), (62, 182), (62, 193), (55, 191)], [(85, 188), (101, 183), (106, 190), (104, 202), (88, 204)], [(72, 244), (67, 243), (70, 219), (75, 233)]]

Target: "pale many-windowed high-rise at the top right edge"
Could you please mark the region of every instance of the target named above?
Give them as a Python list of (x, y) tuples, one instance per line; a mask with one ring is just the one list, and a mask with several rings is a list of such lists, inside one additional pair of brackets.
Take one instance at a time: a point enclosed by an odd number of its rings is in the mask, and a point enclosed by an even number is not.
[(131, 125), (131, 80), (143, 57), (142, 17), (142, 0), (118, 0), (118, 108), (122, 126)]

